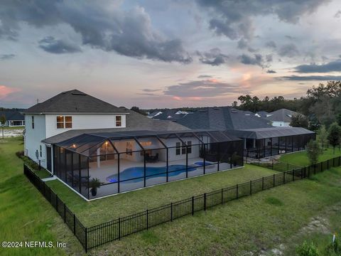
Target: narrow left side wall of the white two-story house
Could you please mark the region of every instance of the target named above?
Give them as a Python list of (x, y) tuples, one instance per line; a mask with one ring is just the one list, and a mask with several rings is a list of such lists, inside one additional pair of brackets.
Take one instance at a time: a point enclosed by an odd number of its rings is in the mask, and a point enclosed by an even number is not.
[[(34, 117), (34, 129), (32, 129), (32, 116)], [(34, 161), (42, 160), (41, 165), (46, 168), (45, 144), (41, 143), (46, 138), (45, 115), (44, 114), (25, 114), (26, 132), (24, 140), (25, 155)], [(42, 156), (40, 156), (40, 145)], [(36, 150), (39, 156), (36, 157)]]

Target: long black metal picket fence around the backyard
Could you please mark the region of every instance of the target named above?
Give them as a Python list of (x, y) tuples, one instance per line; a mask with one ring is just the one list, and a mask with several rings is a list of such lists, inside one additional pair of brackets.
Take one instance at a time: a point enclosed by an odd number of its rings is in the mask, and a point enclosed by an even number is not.
[(147, 209), (123, 218), (117, 218), (107, 223), (85, 228), (76, 218), (75, 214), (67, 208), (65, 203), (56, 195), (36, 174), (24, 165), (24, 174), (43, 193), (43, 196), (52, 204), (55, 210), (64, 219), (67, 226), (76, 235), (77, 239), (85, 248), (90, 250), (104, 243), (119, 240), (127, 235), (148, 230), (162, 223), (171, 222), (185, 215), (194, 215), (199, 210), (207, 210), (213, 206), (221, 205), (253, 193), (274, 188), (286, 183), (308, 178), (313, 174), (341, 165), (341, 156), (320, 162), (315, 165), (306, 166), (278, 174), (258, 178), (256, 180), (239, 183), (210, 193), (168, 203), (157, 208)]

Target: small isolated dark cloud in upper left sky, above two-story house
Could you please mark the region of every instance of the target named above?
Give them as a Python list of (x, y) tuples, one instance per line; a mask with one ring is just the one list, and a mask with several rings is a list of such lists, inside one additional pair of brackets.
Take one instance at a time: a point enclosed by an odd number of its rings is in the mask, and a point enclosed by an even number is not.
[(38, 43), (39, 47), (48, 53), (78, 53), (82, 51), (80, 46), (63, 40), (56, 40), (53, 36), (47, 36)]

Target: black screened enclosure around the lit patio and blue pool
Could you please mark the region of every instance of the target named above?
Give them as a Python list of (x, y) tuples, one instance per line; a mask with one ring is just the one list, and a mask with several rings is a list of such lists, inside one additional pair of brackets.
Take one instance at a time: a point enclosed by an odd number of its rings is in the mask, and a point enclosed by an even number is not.
[(97, 132), (53, 146), (54, 174), (87, 199), (243, 166), (227, 132)]

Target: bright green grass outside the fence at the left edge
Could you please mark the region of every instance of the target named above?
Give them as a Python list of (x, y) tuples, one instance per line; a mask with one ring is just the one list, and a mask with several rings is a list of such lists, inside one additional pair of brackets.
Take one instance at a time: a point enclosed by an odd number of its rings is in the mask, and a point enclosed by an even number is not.
[(0, 255), (68, 255), (82, 247), (58, 213), (23, 176), (23, 162), (15, 155), (23, 149), (20, 137), (0, 140), (0, 242), (60, 241), (67, 249), (4, 249)]

